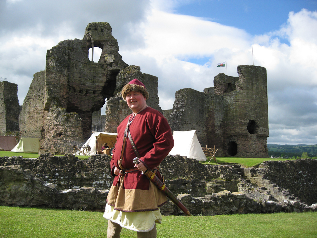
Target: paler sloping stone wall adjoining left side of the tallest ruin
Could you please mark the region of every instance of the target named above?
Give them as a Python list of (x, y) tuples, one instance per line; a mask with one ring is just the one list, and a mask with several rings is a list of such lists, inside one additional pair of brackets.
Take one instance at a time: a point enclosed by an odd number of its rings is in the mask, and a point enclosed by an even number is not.
[(42, 139), (44, 121), (45, 71), (35, 73), (19, 116), (21, 137)]

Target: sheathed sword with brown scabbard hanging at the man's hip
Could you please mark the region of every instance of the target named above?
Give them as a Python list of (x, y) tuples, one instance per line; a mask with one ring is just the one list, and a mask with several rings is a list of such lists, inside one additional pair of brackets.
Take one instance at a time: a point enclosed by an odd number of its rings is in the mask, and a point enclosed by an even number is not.
[[(135, 157), (133, 159), (133, 163), (134, 164), (138, 164), (139, 163), (139, 158)], [(181, 209), (186, 215), (190, 216), (190, 212), (188, 211), (187, 208), (184, 207), (184, 205), (177, 199), (177, 197), (175, 197), (174, 194), (171, 193), (170, 189), (168, 189), (165, 184), (159, 180), (159, 178), (151, 171), (151, 170), (146, 170), (145, 172), (142, 172), (142, 174), (146, 175), (146, 177), (151, 180), (154, 185), (159, 188), (159, 190), (161, 190), (169, 199), (171, 199), (171, 201), (178, 206), (179, 209)]]

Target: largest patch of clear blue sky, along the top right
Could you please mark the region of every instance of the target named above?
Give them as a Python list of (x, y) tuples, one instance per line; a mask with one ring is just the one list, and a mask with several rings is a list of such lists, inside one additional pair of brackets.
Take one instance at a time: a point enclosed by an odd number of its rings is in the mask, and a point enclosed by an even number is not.
[[(184, 1), (186, 2), (186, 1)], [(290, 11), (302, 8), (317, 10), (317, 1), (311, 0), (200, 0), (180, 5), (175, 13), (205, 17), (210, 21), (262, 35), (279, 30)]]

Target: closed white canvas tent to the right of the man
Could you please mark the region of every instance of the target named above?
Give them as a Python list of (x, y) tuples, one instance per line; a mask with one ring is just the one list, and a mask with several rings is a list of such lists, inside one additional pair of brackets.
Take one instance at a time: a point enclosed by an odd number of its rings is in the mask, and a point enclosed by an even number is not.
[(199, 161), (206, 161), (207, 158), (197, 139), (196, 130), (173, 131), (174, 147), (170, 155), (181, 155)]

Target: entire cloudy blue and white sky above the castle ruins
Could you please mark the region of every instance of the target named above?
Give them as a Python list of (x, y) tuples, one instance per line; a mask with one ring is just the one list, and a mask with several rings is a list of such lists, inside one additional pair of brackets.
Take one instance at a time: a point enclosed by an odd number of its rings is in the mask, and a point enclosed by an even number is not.
[(0, 77), (22, 105), (47, 50), (108, 22), (123, 60), (159, 78), (162, 109), (254, 61), (267, 69), (268, 143), (317, 144), (316, 10), (316, 0), (0, 0)]

